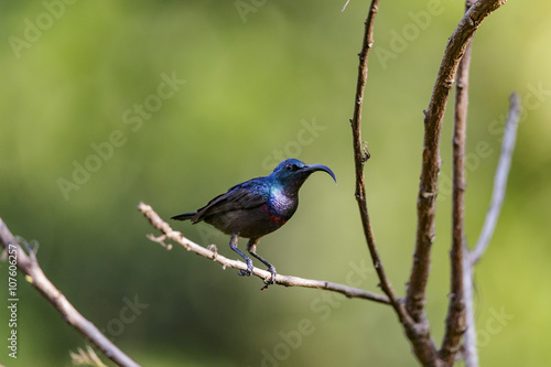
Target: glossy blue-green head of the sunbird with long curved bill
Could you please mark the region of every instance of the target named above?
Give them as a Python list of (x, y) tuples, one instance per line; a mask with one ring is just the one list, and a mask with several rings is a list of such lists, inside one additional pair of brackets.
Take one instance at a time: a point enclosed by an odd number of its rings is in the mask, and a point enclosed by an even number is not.
[(335, 183), (337, 182), (335, 174), (328, 166), (323, 164), (307, 165), (306, 163), (295, 159), (288, 159), (278, 164), (269, 177), (274, 180), (284, 188), (296, 193), (304, 181), (306, 181), (306, 179), (316, 171), (327, 172), (333, 180), (335, 180)]

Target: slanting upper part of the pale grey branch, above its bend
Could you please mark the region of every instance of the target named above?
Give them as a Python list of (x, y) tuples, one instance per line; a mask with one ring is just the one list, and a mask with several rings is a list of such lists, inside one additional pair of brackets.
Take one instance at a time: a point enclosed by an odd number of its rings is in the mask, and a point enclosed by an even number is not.
[(497, 165), (496, 175), (494, 177), (494, 192), (491, 193), (491, 203), (489, 205), (486, 219), (476, 242), (475, 248), (471, 252), (471, 262), (475, 265), (480, 260), (482, 256), (488, 247), (489, 240), (494, 235), (497, 218), (504, 203), (505, 191), (507, 188), (507, 177), (509, 176), (509, 168), (511, 164), (512, 150), (517, 140), (517, 127), (520, 117), (520, 100), (516, 93), (509, 98), (509, 114), (505, 123), (504, 140), (501, 142), (501, 153)]

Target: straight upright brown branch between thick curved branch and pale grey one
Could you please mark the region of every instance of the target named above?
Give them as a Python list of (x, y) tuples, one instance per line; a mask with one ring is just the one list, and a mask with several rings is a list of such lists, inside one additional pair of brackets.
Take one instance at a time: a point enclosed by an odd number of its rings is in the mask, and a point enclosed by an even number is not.
[[(472, 1), (465, 2), (465, 12)], [(453, 366), (460, 348), (465, 325), (465, 295), (463, 289), (463, 244), (465, 240), (465, 145), (468, 111), (468, 72), (471, 65), (472, 42), (469, 41), (457, 67), (455, 87), (455, 114), (453, 133), (453, 197), (452, 197), (452, 250), (450, 251), (451, 287), (447, 317), (440, 349), (440, 358), (445, 366)]]

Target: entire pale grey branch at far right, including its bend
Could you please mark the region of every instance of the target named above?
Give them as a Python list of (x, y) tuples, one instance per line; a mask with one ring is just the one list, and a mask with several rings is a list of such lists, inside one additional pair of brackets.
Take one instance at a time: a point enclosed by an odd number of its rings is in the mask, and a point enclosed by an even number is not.
[(520, 118), (520, 100), (519, 96), (514, 93), (509, 99), (509, 114), (505, 123), (504, 140), (501, 142), (501, 153), (499, 154), (499, 162), (494, 177), (494, 192), (491, 194), (491, 203), (486, 214), (483, 230), (478, 237), (473, 251), (465, 248), (465, 271), (463, 278), (464, 293), (466, 300), (466, 323), (467, 331), (463, 342), (463, 355), (465, 365), (467, 367), (478, 367), (478, 354), (476, 349), (476, 325), (474, 319), (474, 299), (473, 299), (473, 274), (474, 267), (480, 260), (482, 256), (488, 248), (489, 240), (494, 235), (501, 204), (505, 198), (507, 188), (507, 177), (509, 176), (509, 169), (511, 163), (512, 151), (515, 149), (515, 141), (517, 140), (517, 128)]

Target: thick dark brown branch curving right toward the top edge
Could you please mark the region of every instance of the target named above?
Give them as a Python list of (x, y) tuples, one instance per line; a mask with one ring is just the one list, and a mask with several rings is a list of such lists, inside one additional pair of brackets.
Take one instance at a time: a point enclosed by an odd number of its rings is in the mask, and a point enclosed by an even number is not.
[(424, 142), (418, 195), (418, 227), (413, 265), (408, 282), (406, 306), (415, 322), (423, 321), (431, 247), (434, 241), (437, 176), (440, 172), (440, 132), (444, 111), (463, 54), (482, 22), (506, 0), (479, 0), (465, 13), (447, 42), (429, 108), (424, 114)]

